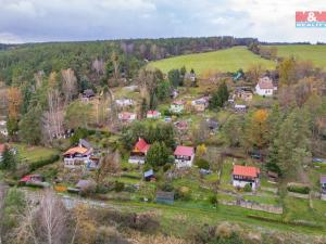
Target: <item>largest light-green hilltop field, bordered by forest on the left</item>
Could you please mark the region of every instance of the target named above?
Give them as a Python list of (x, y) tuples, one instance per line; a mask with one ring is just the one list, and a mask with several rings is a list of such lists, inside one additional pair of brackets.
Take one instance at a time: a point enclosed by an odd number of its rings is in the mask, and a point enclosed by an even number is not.
[(214, 52), (180, 55), (152, 62), (149, 65), (160, 68), (163, 73), (167, 73), (173, 68), (180, 68), (185, 65), (187, 70), (193, 68), (198, 75), (201, 75), (208, 69), (236, 72), (239, 68), (242, 68), (246, 70), (252, 64), (256, 63), (262, 64), (264, 68), (275, 67), (275, 64), (272, 61), (259, 57), (248, 51), (246, 47), (235, 47)]

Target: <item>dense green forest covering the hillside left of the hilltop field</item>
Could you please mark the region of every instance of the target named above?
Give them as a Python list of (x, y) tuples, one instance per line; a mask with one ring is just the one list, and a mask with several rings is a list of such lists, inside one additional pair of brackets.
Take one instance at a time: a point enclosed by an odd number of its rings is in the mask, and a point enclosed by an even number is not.
[[(77, 78), (87, 76), (96, 79), (95, 61), (98, 61), (98, 66), (105, 67), (104, 75), (109, 76), (118, 68), (123, 77), (133, 78), (147, 61), (249, 46), (255, 41), (254, 38), (202, 37), (22, 44), (0, 53), (0, 81), (20, 85), (33, 79), (36, 72), (42, 70), (49, 75), (66, 68), (72, 68)], [(0, 50), (1, 47), (8, 46), (0, 46)], [(113, 52), (118, 56), (118, 67), (110, 61)], [(104, 80), (108, 77), (101, 78)]]

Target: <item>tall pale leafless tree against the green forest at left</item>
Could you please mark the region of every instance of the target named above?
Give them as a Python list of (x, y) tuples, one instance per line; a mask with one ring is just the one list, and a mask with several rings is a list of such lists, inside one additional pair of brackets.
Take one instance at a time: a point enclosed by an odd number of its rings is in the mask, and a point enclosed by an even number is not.
[(62, 88), (65, 97), (65, 104), (68, 104), (74, 94), (77, 93), (77, 78), (75, 76), (75, 72), (72, 68), (63, 69), (61, 72), (62, 75)]

